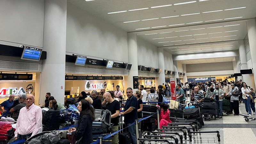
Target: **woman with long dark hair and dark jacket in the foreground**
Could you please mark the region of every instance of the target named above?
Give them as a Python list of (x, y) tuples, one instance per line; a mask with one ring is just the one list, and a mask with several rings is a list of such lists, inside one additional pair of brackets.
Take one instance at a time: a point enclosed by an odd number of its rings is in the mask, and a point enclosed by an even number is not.
[(77, 128), (69, 128), (69, 133), (76, 136), (79, 144), (90, 144), (92, 142), (92, 121), (95, 119), (94, 109), (84, 99), (78, 103), (77, 109), (80, 112)]

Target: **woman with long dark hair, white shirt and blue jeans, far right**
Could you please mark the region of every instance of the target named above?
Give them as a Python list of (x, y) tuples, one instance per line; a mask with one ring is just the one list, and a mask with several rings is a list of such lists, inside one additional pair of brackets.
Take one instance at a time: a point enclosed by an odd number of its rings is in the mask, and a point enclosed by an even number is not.
[(251, 94), (251, 90), (245, 82), (243, 82), (242, 85), (243, 85), (243, 87), (241, 88), (241, 91), (243, 93), (243, 101), (244, 101), (244, 105), (245, 105), (245, 110), (246, 110), (247, 114), (249, 114), (249, 116), (252, 116), (252, 110), (251, 110), (251, 106), (250, 106), (251, 98), (249, 95), (249, 94)]

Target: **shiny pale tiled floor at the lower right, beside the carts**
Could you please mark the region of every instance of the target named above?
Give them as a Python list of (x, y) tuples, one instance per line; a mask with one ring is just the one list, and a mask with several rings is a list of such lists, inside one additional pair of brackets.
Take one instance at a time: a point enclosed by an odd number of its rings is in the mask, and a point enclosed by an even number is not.
[[(244, 103), (240, 103), (240, 114), (247, 115)], [(255, 115), (254, 115), (255, 116)], [(256, 144), (256, 121), (245, 122), (243, 116), (233, 114), (204, 121), (201, 131), (219, 131), (221, 144)]]

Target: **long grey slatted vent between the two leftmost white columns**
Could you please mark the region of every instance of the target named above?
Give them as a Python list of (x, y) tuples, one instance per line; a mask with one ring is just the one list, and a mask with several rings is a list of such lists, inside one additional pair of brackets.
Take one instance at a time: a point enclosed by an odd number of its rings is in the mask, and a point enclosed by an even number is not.
[(97, 68), (70, 67), (70, 66), (66, 66), (65, 72), (66, 73), (83, 73), (83, 74), (128, 76), (128, 71), (110, 70), (110, 69), (97, 69)]

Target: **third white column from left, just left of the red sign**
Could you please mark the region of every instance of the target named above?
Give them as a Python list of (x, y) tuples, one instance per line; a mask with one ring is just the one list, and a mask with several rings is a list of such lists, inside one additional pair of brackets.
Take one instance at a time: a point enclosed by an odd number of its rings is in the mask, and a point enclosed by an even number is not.
[(165, 84), (165, 76), (164, 76), (164, 48), (157, 48), (158, 54), (158, 68), (162, 69), (161, 74), (159, 77), (156, 78), (156, 87), (158, 85)]

